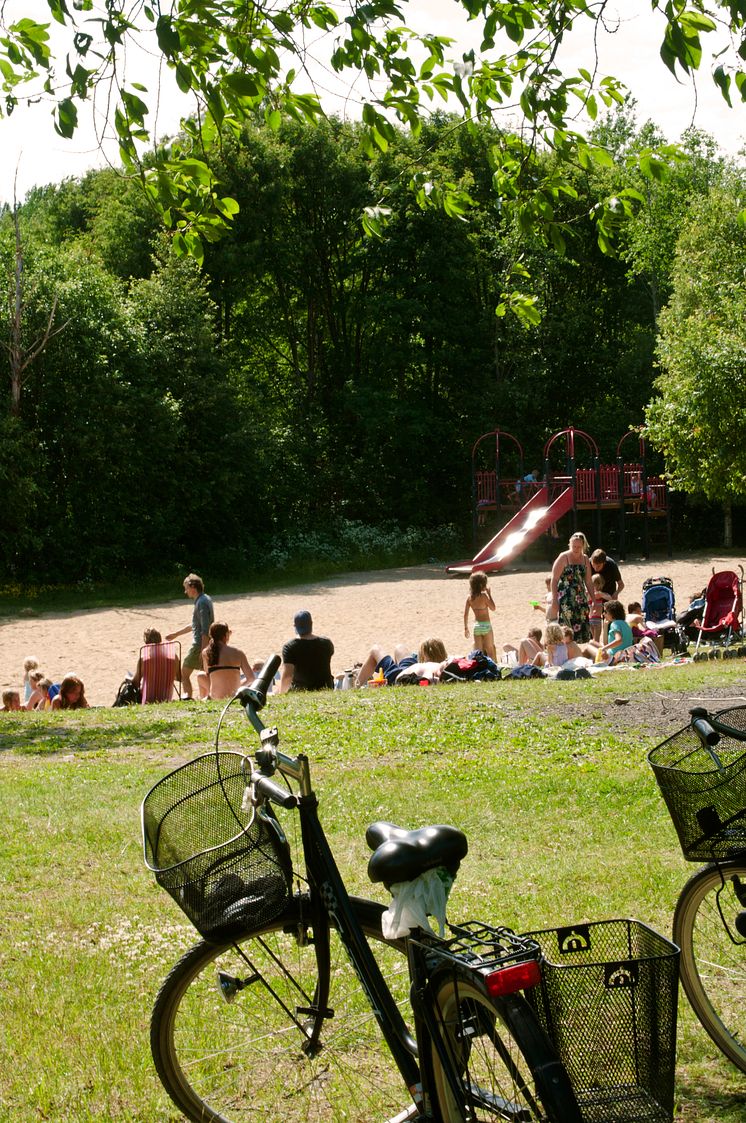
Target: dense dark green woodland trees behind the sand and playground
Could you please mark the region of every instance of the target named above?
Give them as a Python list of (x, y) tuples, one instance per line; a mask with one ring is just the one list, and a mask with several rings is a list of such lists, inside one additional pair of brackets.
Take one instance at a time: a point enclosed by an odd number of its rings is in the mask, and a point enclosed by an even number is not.
[[(646, 186), (634, 153), (655, 137), (625, 111), (599, 127), (611, 166), (573, 173), (561, 253), (495, 209), (495, 131), (454, 124), (374, 159), (337, 120), (226, 136), (210, 158), (240, 209), (201, 271), (109, 171), (0, 217), (6, 578), (446, 556), (482, 432), (534, 459), (574, 423), (615, 455), (651, 398), (675, 217), (740, 173), (692, 136)], [(413, 202), (415, 164), (468, 192), (467, 221)], [(399, 203), (365, 237), (384, 188)], [(627, 188), (645, 201), (610, 257), (589, 214)], [(495, 316), (511, 276), (538, 322)]]

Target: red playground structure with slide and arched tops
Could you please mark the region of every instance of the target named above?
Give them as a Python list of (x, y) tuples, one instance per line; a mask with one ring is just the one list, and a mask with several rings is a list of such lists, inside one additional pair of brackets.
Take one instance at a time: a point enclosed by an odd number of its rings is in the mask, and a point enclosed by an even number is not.
[[(625, 445), (629, 438), (638, 440), (638, 457), (627, 462)], [(494, 441), (494, 467), (479, 467), (483, 457), (483, 442)], [(590, 467), (579, 467), (576, 446), (591, 460)], [(564, 455), (563, 455), (564, 454)], [(503, 471), (508, 460), (512, 472)], [(557, 468), (557, 460), (560, 466)], [(472, 449), (472, 520), (476, 547), (480, 530), (494, 513), (498, 532), (476, 550), (468, 562), (447, 567), (448, 573), (470, 574), (474, 569), (495, 573), (504, 568), (531, 542), (544, 533), (552, 533), (557, 521), (571, 515), (572, 530), (579, 529), (580, 513), (593, 518), (595, 541), (602, 540), (602, 517), (616, 515), (618, 555), (625, 557), (626, 521), (642, 523), (642, 547), (649, 556), (651, 521), (664, 521), (668, 557), (671, 557), (671, 520), (668, 491), (659, 475), (647, 471), (645, 439), (634, 431), (624, 435), (617, 445), (612, 464), (601, 464), (599, 448), (582, 429), (561, 429), (544, 446), (544, 475), (539, 471), (526, 474), (526, 462), (520, 441), (512, 433), (495, 429), (483, 433)], [(556, 536), (556, 529), (554, 530)]]

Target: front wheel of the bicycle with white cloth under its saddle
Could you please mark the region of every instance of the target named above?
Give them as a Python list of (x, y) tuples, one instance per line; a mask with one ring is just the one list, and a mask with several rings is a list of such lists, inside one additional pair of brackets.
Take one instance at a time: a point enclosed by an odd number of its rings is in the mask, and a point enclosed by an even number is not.
[[(383, 905), (353, 898), (353, 909), (397, 1001), (407, 1004), (404, 948), (382, 943)], [(389, 1119), (410, 1104), (334, 930), (334, 1017), (325, 1022), (317, 1054), (303, 1053), (307, 1039), (288, 1011), (310, 1004), (318, 973), (312, 944), (299, 946), (288, 931), (298, 929), (300, 915), (295, 898), (280, 919), (235, 943), (201, 941), (163, 983), (151, 1021), (153, 1059), (164, 1088), (193, 1123), (362, 1123)], [(256, 969), (264, 985), (249, 983), (228, 1004), (217, 986), (218, 969), (231, 979), (249, 978)], [(302, 1023), (303, 1015), (295, 1016)]]

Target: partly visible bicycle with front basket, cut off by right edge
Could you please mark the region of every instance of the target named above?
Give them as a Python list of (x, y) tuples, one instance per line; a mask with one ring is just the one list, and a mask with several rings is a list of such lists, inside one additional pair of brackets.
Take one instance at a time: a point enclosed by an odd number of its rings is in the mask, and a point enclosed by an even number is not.
[(746, 1072), (746, 706), (691, 711), (649, 754), (688, 861), (673, 919), (681, 980), (716, 1044)]

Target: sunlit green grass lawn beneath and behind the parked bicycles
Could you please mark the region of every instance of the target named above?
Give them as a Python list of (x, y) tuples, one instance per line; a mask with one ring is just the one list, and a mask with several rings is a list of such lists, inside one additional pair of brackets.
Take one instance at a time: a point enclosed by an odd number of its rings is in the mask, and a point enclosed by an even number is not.
[[(746, 694), (740, 660), (591, 683), (498, 683), (271, 700), (309, 754), (352, 891), (374, 819), (470, 839), (455, 920), (518, 930), (635, 916), (670, 932), (691, 871), (646, 763), (690, 700)], [(744, 699), (746, 701), (746, 699)], [(728, 704), (724, 697), (722, 705)], [(178, 1120), (149, 1010), (195, 939), (143, 865), (148, 788), (213, 741), (217, 704), (3, 715), (0, 725), (0, 1120)], [(226, 748), (255, 734), (237, 711)], [(680, 1010), (677, 1120), (743, 1123), (746, 1079)]]

